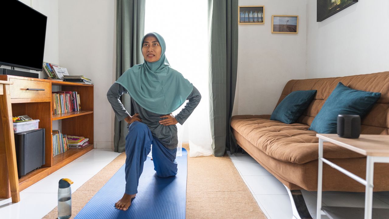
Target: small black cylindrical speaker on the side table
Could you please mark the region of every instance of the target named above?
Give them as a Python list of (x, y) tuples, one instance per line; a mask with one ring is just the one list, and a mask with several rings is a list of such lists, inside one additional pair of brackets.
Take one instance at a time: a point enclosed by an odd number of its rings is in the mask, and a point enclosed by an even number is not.
[(361, 117), (359, 115), (338, 115), (338, 136), (342, 138), (359, 138), (361, 134)]

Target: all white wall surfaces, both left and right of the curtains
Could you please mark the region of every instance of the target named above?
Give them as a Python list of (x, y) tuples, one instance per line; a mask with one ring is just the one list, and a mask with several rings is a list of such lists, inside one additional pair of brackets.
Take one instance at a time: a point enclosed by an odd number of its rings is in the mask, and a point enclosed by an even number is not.
[[(29, 0), (22, 2), (30, 5)], [(113, 145), (114, 114), (105, 94), (115, 81), (115, 4), (32, 1), (48, 17), (44, 60), (95, 83), (95, 147)], [(265, 5), (265, 24), (238, 26), (233, 115), (272, 113), (290, 79), (389, 70), (389, 1), (359, 0), (322, 22), (316, 22), (315, 0), (239, 0), (239, 5)], [(299, 33), (272, 34), (271, 18), (277, 14), (298, 15)]]

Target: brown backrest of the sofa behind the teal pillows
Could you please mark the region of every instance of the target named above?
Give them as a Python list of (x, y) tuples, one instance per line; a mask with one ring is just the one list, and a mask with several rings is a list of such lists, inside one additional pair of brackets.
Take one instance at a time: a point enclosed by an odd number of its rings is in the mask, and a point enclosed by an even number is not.
[(352, 89), (381, 93), (380, 99), (361, 120), (361, 134), (389, 134), (389, 71), (336, 78), (290, 80), (282, 90), (278, 104), (295, 90), (317, 90), (314, 100), (298, 119), (299, 123), (310, 126), (339, 81)]

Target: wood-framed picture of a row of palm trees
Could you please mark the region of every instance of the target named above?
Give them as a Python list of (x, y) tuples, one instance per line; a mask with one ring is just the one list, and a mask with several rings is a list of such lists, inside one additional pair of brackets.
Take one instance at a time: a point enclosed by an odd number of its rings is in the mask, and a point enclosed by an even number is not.
[(238, 6), (238, 24), (263, 24), (265, 23), (265, 6)]

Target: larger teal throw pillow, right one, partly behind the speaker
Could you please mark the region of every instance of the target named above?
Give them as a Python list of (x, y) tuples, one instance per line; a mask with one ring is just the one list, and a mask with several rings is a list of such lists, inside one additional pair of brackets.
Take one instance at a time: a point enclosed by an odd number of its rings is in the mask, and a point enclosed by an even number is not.
[(339, 114), (359, 115), (362, 118), (380, 97), (381, 93), (354, 90), (339, 82), (308, 130), (323, 134), (336, 134)]

